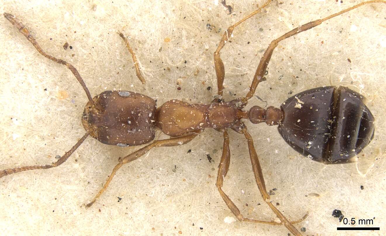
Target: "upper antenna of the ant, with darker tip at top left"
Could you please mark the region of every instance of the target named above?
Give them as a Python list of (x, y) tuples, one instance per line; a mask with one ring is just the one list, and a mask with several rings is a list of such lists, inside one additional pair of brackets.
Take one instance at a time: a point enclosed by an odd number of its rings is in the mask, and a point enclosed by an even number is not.
[(82, 86), (83, 90), (85, 90), (86, 95), (90, 103), (95, 106), (95, 103), (93, 99), (91, 98), (90, 91), (88, 91), (88, 88), (85, 84), (85, 81), (83, 81), (82, 77), (80, 76), (79, 72), (75, 69), (75, 67), (68, 62), (63, 61), (62, 59), (58, 59), (56, 57), (53, 57), (46, 52), (42, 50), (42, 48), (39, 46), (39, 44), (36, 42), (36, 39), (30, 34), (29, 30), (24, 27), (24, 25), (20, 22), (19, 19), (17, 19), (14, 15), (11, 15), (10, 13), (4, 13), (5, 19), (7, 19), (9, 22), (11, 22), (12, 25), (14, 25), (20, 33), (22, 33), (28, 41), (31, 42), (31, 44), (36, 48), (36, 50), (42, 54), (44, 57), (47, 57), (51, 61), (54, 61), (56, 63), (62, 64), (66, 66), (75, 76), (76, 79), (78, 79), (80, 85)]

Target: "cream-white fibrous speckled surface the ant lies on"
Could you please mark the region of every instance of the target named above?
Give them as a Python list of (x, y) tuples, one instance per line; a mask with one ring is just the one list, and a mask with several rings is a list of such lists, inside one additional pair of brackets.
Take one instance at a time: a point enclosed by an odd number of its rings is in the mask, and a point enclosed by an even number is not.
[[(245, 96), (273, 39), (359, 2), (274, 0), (225, 44), (224, 98)], [(262, 3), (229, 0), (228, 15), (220, 0), (5, 0), (0, 12), (18, 17), (44, 51), (73, 64), (92, 96), (135, 91), (160, 106), (169, 99), (212, 101), (217, 94), (213, 52), (223, 32)], [(385, 16), (386, 4), (373, 3), (280, 42), (267, 80), (257, 87), (258, 98), (246, 108), (278, 107), (318, 86), (343, 85), (367, 98), (376, 133), (354, 164), (314, 162), (289, 147), (276, 126), (245, 121), (267, 189), (274, 193), (271, 201), (290, 220), (308, 212), (295, 225), (305, 228), (304, 235), (384, 234), (384, 227), (336, 231), (350, 225), (332, 212), (341, 210), (349, 221), (373, 219), (373, 227), (386, 222)], [(118, 30), (129, 37), (146, 84), (136, 77)], [(0, 169), (51, 164), (84, 135), (86, 94), (65, 66), (41, 56), (3, 17), (0, 56)], [(244, 136), (229, 135), (232, 157), (224, 191), (245, 217), (278, 221), (257, 189)], [(156, 138), (168, 136), (157, 131)], [(59, 167), (0, 179), (0, 229), (7, 235), (287, 235), (284, 226), (239, 222), (225, 205), (215, 187), (222, 143), (221, 133), (205, 130), (186, 145), (153, 149), (122, 167), (85, 209), (118, 158), (139, 148), (107, 146), (89, 137)]]

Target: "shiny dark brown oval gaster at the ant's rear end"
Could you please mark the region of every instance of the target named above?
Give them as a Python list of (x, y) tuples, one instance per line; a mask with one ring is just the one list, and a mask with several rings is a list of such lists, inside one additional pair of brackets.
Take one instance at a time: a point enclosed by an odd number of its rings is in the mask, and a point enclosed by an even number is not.
[(280, 107), (278, 130), (297, 152), (325, 164), (353, 162), (374, 136), (374, 117), (365, 98), (349, 88), (313, 88)]

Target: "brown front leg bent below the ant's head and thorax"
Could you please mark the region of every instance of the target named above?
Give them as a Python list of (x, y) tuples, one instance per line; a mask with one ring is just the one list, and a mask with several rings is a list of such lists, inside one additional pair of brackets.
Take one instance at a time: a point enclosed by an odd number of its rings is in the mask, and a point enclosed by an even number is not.
[[(199, 133), (199, 132), (198, 132)], [(198, 133), (191, 133), (189, 135), (181, 136), (181, 137), (176, 137), (176, 138), (169, 138), (169, 139), (163, 139), (163, 140), (156, 140), (152, 142), (149, 145), (146, 145), (143, 148), (140, 148), (139, 150), (130, 153), (124, 158), (119, 159), (119, 163), (114, 167), (113, 171), (111, 172), (110, 176), (108, 177), (105, 185), (103, 185), (102, 189), (98, 192), (98, 194), (91, 200), (90, 203), (85, 205), (86, 208), (92, 206), (95, 201), (98, 200), (98, 198), (102, 195), (102, 193), (107, 189), (108, 185), (110, 184), (111, 180), (113, 179), (115, 172), (124, 164), (132, 162), (133, 160), (136, 160), (137, 158), (141, 157), (142, 155), (146, 154), (149, 152), (152, 148), (154, 147), (173, 147), (173, 146), (179, 146), (183, 145), (185, 143), (190, 142), (195, 138)]]

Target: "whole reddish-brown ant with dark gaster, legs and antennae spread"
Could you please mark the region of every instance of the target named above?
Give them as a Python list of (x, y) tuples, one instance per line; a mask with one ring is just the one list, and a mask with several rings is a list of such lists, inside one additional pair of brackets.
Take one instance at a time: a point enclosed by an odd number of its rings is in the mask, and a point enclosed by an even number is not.
[[(349, 10), (357, 8), (367, 3), (386, 3), (385, 1), (368, 1), (362, 2), (354, 7), (340, 11), (321, 20), (315, 20), (300, 27), (287, 32), (278, 39), (273, 40), (270, 46), (264, 52), (264, 56), (259, 62), (256, 74), (249, 88), (249, 92), (245, 97), (240, 97), (229, 102), (225, 102), (222, 98), (223, 95), (223, 81), (225, 78), (224, 66), (220, 57), (220, 51), (225, 43), (231, 37), (231, 34), (235, 27), (251, 18), (253, 15), (261, 12), (271, 0), (268, 0), (258, 10), (244, 17), (236, 24), (230, 26), (224, 33), (217, 50), (214, 53), (215, 71), (217, 75), (217, 87), (218, 98), (213, 100), (209, 104), (193, 104), (184, 103), (179, 100), (171, 100), (159, 108), (156, 108), (156, 103), (152, 98), (146, 95), (131, 92), (131, 91), (104, 91), (101, 94), (92, 97), (85, 82), (81, 78), (79, 72), (68, 62), (61, 59), (57, 59), (49, 54), (46, 54), (44, 50), (39, 46), (34, 37), (30, 34), (24, 25), (17, 20), (13, 15), (4, 13), (4, 16), (9, 20), (19, 31), (27, 37), (27, 39), (36, 47), (43, 56), (48, 59), (63, 64), (74, 74), (76, 79), (81, 84), (82, 88), (88, 97), (88, 103), (85, 106), (85, 110), (82, 116), (82, 124), (85, 127), (85, 135), (76, 143), (68, 152), (59, 158), (57, 162), (52, 165), (34, 165), (26, 167), (18, 167), (12, 169), (5, 169), (0, 172), (0, 177), (5, 175), (22, 172), (25, 170), (34, 169), (49, 169), (57, 167), (63, 164), (67, 158), (78, 148), (81, 143), (90, 135), (96, 138), (98, 141), (108, 145), (118, 145), (120, 147), (142, 145), (151, 142), (154, 137), (154, 129), (159, 128), (165, 134), (172, 138), (166, 140), (156, 140), (145, 147), (127, 155), (124, 158), (119, 159), (119, 164), (115, 166), (112, 174), (108, 178), (103, 188), (98, 192), (97, 196), (86, 204), (86, 207), (93, 205), (95, 201), (101, 196), (108, 184), (113, 179), (115, 172), (124, 164), (132, 162), (137, 158), (147, 153), (153, 147), (170, 147), (183, 145), (198, 136), (198, 134), (205, 128), (213, 128), (223, 133), (223, 150), (221, 161), (218, 170), (217, 188), (222, 196), (224, 202), (227, 204), (232, 213), (240, 221), (248, 221), (254, 223), (263, 224), (284, 224), (288, 230), (295, 234), (301, 235), (300, 232), (293, 226), (295, 223), (301, 222), (307, 214), (297, 220), (289, 221), (284, 214), (282, 214), (270, 201), (269, 194), (267, 193), (262, 170), (259, 164), (259, 159), (254, 148), (254, 143), (251, 135), (247, 131), (247, 127), (241, 121), (241, 119), (247, 119), (252, 123), (265, 122), (267, 125), (279, 125), (279, 132), (283, 136), (284, 140), (291, 145), (296, 151), (302, 155), (312, 158), (325, 164), (335, 163), (349, 163), (352, 158), (362, 148), (371, 141), (374, 135), (374, 118), (371, 112), (364, 105), (364, 98), (362, 96), (348, 88), (339, 87), (335, 88), (320, 87), (310, 89), (302, 93), (298, 93), (291, 98), (287, 99), (281, 106), (281, 108), (268, 107), (267, 109), (253, 106), (249, 111), (242, 110), (248, 103), (248, 100), (254, 96), (257, 85), (264, 80), (264, 74), (267, 69), (269, 60), (273, 54), (274, 49), (281, 40), (296, 35), (300, 32), (311, 29), (317, 25), (322, 24), (325, 20), (331, 19)], [(130, 47), (128, 40), (122, 33), (119, 33), (120, 37), (124, 40), (127, 49), (132, 55), (132, 59), (135, 64), (137, 77), (144, 83), (144, 78), (141, 75), (135, 53)], [(329, 98), (330, 100), (324, 101), (323, 99)], [(333, 101), (333, 102), (329, 102)], [(354, 107), (350, 107), (350, 110), (345, 104), (354, 104)], [(291, 105), (291, 106), (289, 106)], [(319, 108), (318, 105), (320, 105)], [(303, 113), (301, 108), (307, 108), (308, 110)], [(347, 108), (347, 109), (346, 109)], [(314, 110), (312, 110), (314, 109)], [(312, 111), (310, 111), (312, 110)], [(298, 112), (297, 112), (298, 111)], [(336, 119), (324, 119), (321, 117), (320, 112), (312, 113), (313, 111), (328, 111), (325, 115), (333, 115)], [(291, 115), (289, 115), (291, 114)], [(310, 118), (308, 126), (305, 130), (311, 130), (304, 134), (304, 132), (296, 133), (296, 128), (291, 127), (291, 124), (301, 122), (301, 118)], [(349, 119), (349, 123), (344, 120)], [(318, 120), (321, 119), (321, 120)], [(339, 120), (340, 119), (340, 120)], [(317, 125), (315, 126), (314, 121)], [(325, 123), (327, 121), (327, 123)], [(324, 122), (324, 123), (323, 123)], [(347, 123), (347, 125), (345, 124)], [(359, 125), (355, 127), (348, 126), (350, 123), (357, 122)], [(301, 124), (301, 123), (300, 123)], [(318, 126), (319, 125), (319, 126)], [(260, 221), (256, 219), (249, 219), (242, 215), (237, 206), (233, 203), (225, 192), (222, 190), (223, 179), (225, 178), (230, 165), (230, 150), (229, 150), (229, 135), (227, 129), (230, 128), (237, 133), (244, 135), (246, 142), (248, 143), (249, 153), (252, 162), (252, 169), (256, 178), (256, 184), (262, 194), (263, 199), (268, 206), (273, 210), (276, 216), (280, 219), (281, 223), (274, 221)], [(315, 130), (323, 130), (322, 135)], [(314, 129), (314, 130), (313, 130)], [(312, 130), (315, 131), (312, 133)], [(339, 133), (340, 131), (349, 130), (349, 135), (346, 133)], [(304, 136), (301, 136), (303, 134)], [(313, 137), (312, 140), (309, 137)], [(291, 136), (291, 137), (290, 137)], [(347, 136), (351, 138), (345, 139)], [(339, 138), (338, 138), (339, 137)], [(308, 138), (308, 139), (307, 139)], [(351, 140), (362, 140), (361, 142), (352, 142)], [(326, 145), (327, 143), (327, 145)]]

